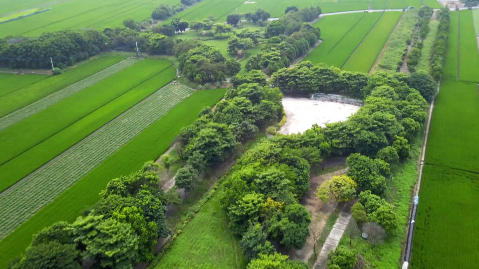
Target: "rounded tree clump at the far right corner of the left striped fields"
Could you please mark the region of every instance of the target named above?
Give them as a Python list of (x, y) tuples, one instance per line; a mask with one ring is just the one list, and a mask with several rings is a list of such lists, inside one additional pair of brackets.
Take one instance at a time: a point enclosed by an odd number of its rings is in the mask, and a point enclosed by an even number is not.
[(198, 84), (220, 84), (226, 75), (234, 76), (240, 72), (240, 63), (235, 59), (226, 60), (216, 47), (193, 41), (185, 42), (188, 50), (182, 50), (183, 44), (180, 44), (176, 51), (180, 61), (179, 69), (191, 81)]

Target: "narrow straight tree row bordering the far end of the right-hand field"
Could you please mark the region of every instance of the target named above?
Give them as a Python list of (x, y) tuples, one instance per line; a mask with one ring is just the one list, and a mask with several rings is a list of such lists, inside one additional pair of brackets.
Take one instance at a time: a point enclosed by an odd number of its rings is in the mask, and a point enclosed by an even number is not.
[(434, 42), (433, 54), (431, 56), (431, 75), (439, 80), (443, 71), (444, 55), (449, 38), (449, 8), (442, 8), (439, 13), (439, 26), (436, 41)]

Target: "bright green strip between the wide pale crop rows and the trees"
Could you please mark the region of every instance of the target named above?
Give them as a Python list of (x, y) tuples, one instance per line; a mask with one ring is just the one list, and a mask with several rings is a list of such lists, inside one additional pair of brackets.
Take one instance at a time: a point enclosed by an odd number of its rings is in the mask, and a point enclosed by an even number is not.
[(168, 149), (181, 128), (197, 119), (204, 106), (213, 107), (223, 98), (225, 91), (194, 92), (3, 238), (0, 241), (0, 268), (5, 268), (9, 261), (23, 252), (30, 244), (31, 236), (43, 227), (57, 221), (74, 221), (86, 206), (98, 201), (98, 193), (112, 178), (127, 175), (138, 170), (145, 161), (157, 159)]

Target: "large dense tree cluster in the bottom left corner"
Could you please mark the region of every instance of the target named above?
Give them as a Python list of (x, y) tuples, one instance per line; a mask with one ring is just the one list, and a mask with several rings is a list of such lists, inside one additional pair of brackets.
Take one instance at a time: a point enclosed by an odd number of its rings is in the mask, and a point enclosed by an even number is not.
[(159, 186), (157, 164), (147, 162), (111, 180), (100, 196), (72, 224), (58, 222), (33, 236), (10, 268), (132, 269), (152, 260), (157, 238), (170, 234), (165, 222), (170, 199)]

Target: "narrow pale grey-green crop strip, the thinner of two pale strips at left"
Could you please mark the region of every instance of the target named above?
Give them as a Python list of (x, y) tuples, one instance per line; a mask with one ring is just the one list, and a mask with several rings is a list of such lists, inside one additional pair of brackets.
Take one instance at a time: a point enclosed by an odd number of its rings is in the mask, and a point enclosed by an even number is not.
[[(128, 63), (129, 61), (131, 61), (131, 63)], [(53, 106), (54, 104), (58, 103), (58, 102), (61, 102), (63, 101), (64, 99), (76, 94), (76, 93), (79, 93), (81, 92), (82, 90), (88, 88), (88, 87), (91, 87), (93, 85), (95, 85), (96, 83), (118, 73), (119, 71), (129, 67), (129, 66), (132, 66), (133, 64), (135, 64), (136, 62), (138, 61), (141, 61), (141, 60), (137, 60), (136, 58), (131, 58), (131, 57), (128, 57), (124, 60), (121, 60), (113, 65), (110, 65), (84, 79), (81, 79), (73, 84), (70, 84), (68, 86), (66, 86), (65, 88), (62, 88), (50, 95), (47, 95), (43, 98), (41, 98), (40, 100), (37, 100), (29, 105), (26, 105), (22, 108), (19, 108), (3, 117), (0, 118), (0, 131), (3, 130), (3, 129), (6, 129), (12, 125), (14, 125), (15, 123), (17, 122), (20, 122), (21, 120), (24, 120), (30, 116), (33, 116), (51, 106)], [(122, 64), (125, 64), (124, 66), (121, 66)], [(102, 74), (98, 75), (99, 73), (107, 73), (108, 70), (110, 69), (114, 69), (115, 67), (118, 67), (120, 65), (120, 69), (114, 71), (113, 73), (107, 75), (106, 77), (101, 77)], [(95, 76), (99, 76), (100, 78), (99, 79), (96, 79)], [(92, 78), (93, 77), (93, 78)], [(68, 89), (70, 87), (75, 87), (76, 85), (80, 84), (80, 83), (85, 83), (86, 80), (89, 80), (89, 79), (92, 79), (94, 83), (92, 83), (91, 85), (88, 85), (86, 84), (85, 87), (83, 88), (80, 88), (80, 89), (73, 89), (73, 90), (70, 90), (68, 91)], [(95, 80), (96, 79), (96, 80)], [(31, 85), (31, 84), (30, 84)], [(28, 85), (27, 85), (28, 86)], [(24, 87), (23, 87), (24, 88)], [(23, 88), (20, 88), (20, 89), (23, 89)], [(18, 89), (18, 90), (20, 90)], [(16, 90), (16, 91), (18, 91)], [(14, 91), (15, 92), (15, 91)], [(56, 97), (59, 97), (58, 99), (56, 99)], [(52, 100), (50, 100), (52, 99)], [(46, 104), (44, 104), (46, 102)], [(13, 118), (13, 119), (11, 119)]]

